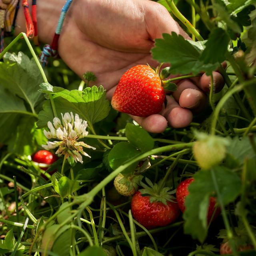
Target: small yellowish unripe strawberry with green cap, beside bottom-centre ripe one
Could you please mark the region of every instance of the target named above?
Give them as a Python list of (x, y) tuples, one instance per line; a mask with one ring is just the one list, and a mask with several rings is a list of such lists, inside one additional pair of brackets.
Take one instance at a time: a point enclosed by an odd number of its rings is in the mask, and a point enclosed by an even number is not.
[(138, 184), (142, 178), (141, 175), (124, 176), (120, 173), (114, 179), (114, 186), (122, 196), (132, 196), (138, 190)]

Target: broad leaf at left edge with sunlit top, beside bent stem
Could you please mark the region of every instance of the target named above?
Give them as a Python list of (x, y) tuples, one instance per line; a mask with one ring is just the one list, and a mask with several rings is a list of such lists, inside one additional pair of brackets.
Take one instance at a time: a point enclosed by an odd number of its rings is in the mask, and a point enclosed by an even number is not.
[(0, 62), (0, 80), (2, 86), (25, 100), (31, 109), (44, 99), (38, 92), (43, 79), (36, 62), (22, 52), (4, 55), (4, 62)]

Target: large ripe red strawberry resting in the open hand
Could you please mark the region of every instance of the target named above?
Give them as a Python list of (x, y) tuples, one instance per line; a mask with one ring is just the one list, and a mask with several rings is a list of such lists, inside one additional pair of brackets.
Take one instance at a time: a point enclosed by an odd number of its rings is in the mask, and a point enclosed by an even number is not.
[(150, 66), (137, 65), (122, 75), (111, 104), (120, 112), (150, 116), (162, 110), (164, 99), (158, 74)]

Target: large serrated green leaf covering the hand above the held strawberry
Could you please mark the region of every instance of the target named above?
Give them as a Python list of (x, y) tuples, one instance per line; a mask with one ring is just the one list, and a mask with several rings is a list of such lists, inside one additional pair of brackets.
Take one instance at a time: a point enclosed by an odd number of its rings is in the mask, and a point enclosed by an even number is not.
[[(201, 46), (203, 44), (202, 42)], [(172, 74), (192, 73), (196, 75), (202, 71), (211, 74), (218, 67), (218, 63), (204, 64), (204, 61), (200, 59), (201, 46), (190, 43), (189, 40), (185, 40), (181, 35), (172, 32), (172, 34), (163, 34), (163, 38), (156, 39), (155, 47), (152, 49), (152, 56), (159, 62), (169, 62)]]

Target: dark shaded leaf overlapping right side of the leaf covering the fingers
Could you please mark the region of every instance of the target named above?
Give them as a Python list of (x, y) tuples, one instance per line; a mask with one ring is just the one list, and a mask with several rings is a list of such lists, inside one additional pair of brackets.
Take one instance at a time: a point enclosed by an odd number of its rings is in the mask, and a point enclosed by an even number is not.
[(225, 60), (229, 41), (230, 38), (225, 30), (222, 28), (215, 28), (210, 33), (209, 39), (205, 44), (206, 48), (203, 50), (200, 60), (205, 64), (220, 64)]

